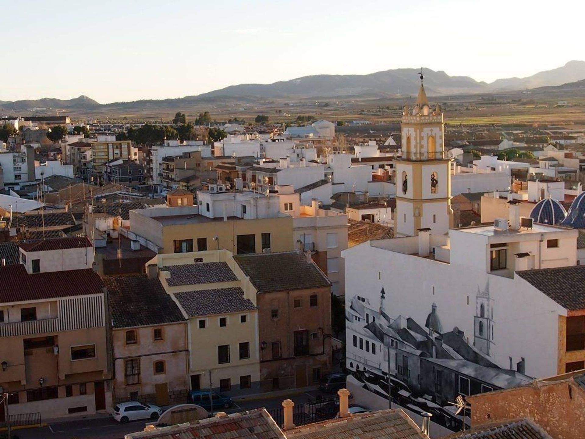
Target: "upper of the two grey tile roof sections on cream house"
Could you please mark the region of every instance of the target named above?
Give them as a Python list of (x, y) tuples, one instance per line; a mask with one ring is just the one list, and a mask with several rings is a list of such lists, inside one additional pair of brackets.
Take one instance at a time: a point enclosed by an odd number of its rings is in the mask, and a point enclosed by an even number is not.
[(171, 287), (238, 280), (226, 262), (169, 265), (161, 268), (161, 270), (171, 274), (167, 279), (167, 284)]

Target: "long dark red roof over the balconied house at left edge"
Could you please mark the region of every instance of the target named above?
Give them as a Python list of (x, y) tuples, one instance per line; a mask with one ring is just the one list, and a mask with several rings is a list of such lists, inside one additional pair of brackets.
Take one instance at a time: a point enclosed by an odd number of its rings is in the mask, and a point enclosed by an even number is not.
[(101, 294), (102, 283), (92, 269), (29, 275), (23, 265), (0, 267), (0, 303)]

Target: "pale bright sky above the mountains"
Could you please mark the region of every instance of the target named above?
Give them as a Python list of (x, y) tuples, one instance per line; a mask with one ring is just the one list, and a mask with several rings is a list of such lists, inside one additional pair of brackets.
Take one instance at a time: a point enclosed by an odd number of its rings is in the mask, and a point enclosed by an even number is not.
[(585, 6), (577, 1), (0, 5), (0, 101), (178, 98), (234, 84), (419, 66), (491, 82), (585, 59)]

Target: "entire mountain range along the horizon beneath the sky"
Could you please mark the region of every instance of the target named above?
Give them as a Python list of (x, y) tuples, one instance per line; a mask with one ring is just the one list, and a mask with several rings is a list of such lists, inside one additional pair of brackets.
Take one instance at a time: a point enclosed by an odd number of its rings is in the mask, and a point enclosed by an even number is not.
[[(43, 98), (39, 100), (0, 101), (0, 110), (64, 109), (91, 111), (104, 109), (149, 109), (200, 104), (228, 100), (258, 101), (266, 99), (398, 97), (415, 95), (419, 87), (418, 68), (397, 68), (366, 75), (311, 75), (273, 84), (239, 84), (196, 96), (166, 100), (133, 102), (99, 102), (80, 96), (71, 100)], [(541, 71), (525, 78), (503, 78), (493, 83), (476, 81), (468, 76), (449, 76), (444, 71), (424, 68), (425, 88), (429, 95), (477, 94), (555, 87), (585, 79), (585, 61), (569, 61), (565, 66)], [(563, 85), (565, 84), (565, 85)], [(570, 85), (568, 85), (570, 88)], [(580, 87), (577, 87), (580, 88)]]

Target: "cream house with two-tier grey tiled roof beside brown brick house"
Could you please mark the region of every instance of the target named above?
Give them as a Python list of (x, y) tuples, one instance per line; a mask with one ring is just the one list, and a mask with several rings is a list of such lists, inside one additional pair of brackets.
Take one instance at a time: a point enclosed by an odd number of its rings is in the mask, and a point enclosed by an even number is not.
[(147, 263), (188, 319), (190, 389), (257, 393), (256, 293), (226, 250), (157, 255)]

